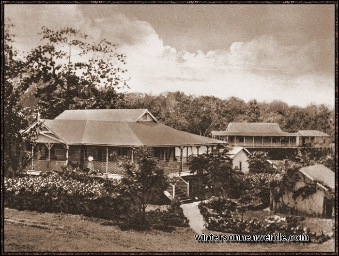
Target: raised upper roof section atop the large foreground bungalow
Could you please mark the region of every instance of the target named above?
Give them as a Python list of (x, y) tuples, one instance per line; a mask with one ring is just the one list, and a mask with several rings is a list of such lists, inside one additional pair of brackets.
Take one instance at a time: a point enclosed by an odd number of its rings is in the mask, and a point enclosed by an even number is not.
[(77, 109), (65, 110), (55, 119), (136, 122), (147, 109)]

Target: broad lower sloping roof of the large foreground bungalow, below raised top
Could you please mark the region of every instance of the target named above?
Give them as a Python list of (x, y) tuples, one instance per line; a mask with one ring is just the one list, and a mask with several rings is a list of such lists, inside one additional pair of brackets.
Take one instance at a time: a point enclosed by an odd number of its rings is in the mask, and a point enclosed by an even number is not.
[[(68, 145), (180, 146), (216, 145), (225, 141), (179, 131), (150, 121), (45, 120)], [(40, 142), (39, 138), (36, 142)]]

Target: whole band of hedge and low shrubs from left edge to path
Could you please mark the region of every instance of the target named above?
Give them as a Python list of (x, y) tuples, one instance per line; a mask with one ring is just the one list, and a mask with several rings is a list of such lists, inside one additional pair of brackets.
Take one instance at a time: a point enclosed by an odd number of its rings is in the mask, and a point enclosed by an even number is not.
[[(161, 229), (188, 226), (180, 202), (174, 200), (165, 211), (139, 211), (135, 197), (119, 180), (102, 178), (80, 168), (66, 166), (62, 172), (41, 176), (5, 178), (5, 207), (40, 212), (63, 212), (108, 219), (123, 229)], [(154, 184), (149, 183), (148, 187)], [(134, 187), (134, 193), (144, 190)], [(161, 191), (160, 193), (162, 193)], [(141, 219), (142, 218), (142, 219)]]

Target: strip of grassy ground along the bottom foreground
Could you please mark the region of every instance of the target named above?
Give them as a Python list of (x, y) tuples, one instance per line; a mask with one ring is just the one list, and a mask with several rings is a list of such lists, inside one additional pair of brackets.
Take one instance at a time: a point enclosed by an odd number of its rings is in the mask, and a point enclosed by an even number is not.
[[(81, 215), (5, 209), (5, 252), (330, 252), (334, 239), (322, 244), (198, 243), (190, 228), (167, 233), (122, 231), (108, 221)], [(205, 234), (212, 233), (206, 231)], [(218, 232), (213, 232), (219, 234)]]

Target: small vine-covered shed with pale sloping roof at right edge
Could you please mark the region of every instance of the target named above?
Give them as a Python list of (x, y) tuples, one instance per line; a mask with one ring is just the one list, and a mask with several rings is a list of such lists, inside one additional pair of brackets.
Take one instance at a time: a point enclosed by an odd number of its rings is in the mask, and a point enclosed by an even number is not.
[[(316, 184), (314, 193), (308, 193), (307, 186)], [(305, 188), (304, 193), (295, 196), (296, 191)], [(290, 210), (295, 213), (332, 217), (334, 213), (335, 176), (324, 165), (300, 168), (293, 189), (286, 189), (278, 201), (271, 194), (270, 209), (273, 211)], [(293, 196), (294, 195), (294, 196)]]

